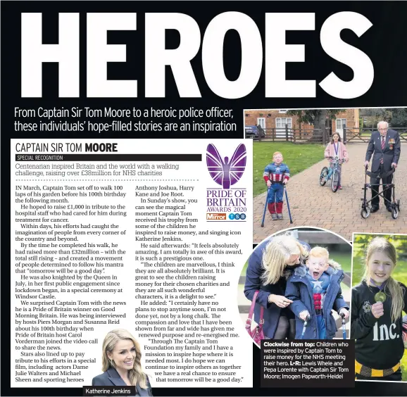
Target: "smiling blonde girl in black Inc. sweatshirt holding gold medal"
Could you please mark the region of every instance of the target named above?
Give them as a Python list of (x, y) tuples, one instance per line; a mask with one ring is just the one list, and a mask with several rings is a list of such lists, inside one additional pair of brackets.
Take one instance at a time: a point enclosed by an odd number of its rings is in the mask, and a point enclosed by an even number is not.
[(363, 279), (352, 289), (356, 379), (401, 381), (407, 291), (392, 277), (396, 263), (396, 249), (387, 239), (375, 237), (370, 241)]

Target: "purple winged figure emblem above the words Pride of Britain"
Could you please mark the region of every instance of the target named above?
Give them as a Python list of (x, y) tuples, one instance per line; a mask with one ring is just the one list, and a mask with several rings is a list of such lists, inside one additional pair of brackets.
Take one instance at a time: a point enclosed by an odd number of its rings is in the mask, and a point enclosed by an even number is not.
[(218, 149), (213, 144), (208, 144), (206, 165), (212, 179), (223, 189), (230, 189), (242, 177), (244, 168), (246, 168), (246, 146), (239, 144), (229, 161), (227, 157), (222, 160)]

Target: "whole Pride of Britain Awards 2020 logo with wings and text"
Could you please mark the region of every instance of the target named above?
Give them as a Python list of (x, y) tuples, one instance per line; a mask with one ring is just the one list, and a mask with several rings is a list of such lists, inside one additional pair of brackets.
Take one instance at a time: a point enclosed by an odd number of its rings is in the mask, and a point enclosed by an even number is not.
[(206, 165), (213, 181), (220, 185), (206, 189), (206, 220), (246, 220), (246, 189), (232, 187), (246, 168), (246, 146), (239, 144), (231, 158), (222, 158), (215, 145), (208, 144)]

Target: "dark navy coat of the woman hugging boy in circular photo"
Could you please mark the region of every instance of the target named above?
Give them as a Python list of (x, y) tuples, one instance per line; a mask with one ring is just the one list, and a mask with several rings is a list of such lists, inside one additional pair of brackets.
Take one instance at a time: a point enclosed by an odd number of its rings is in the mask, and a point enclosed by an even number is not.
[[(260, 308), (265, 308), (263, 313), (263, 332), (268, 338), (274, 338), (275, 330), (277, 329), (278, 320), (282, 308), (279, 308), (275, 303), (268, 303), (268, 296), (270, 294), (284, 296), (285, 287), (287, 284), (286, 277), (280, 277), (277, 284), (263, 285), (261, 276), (263, 275), (264, 268), (261, 265), (263, 259), (263, 251), (265, 246), (270, 242), (271, 238), (266, 239), (261, 244), (258, 244), (249, 258), (249, 264), (246, 270), (246, 282), (244, 283), (244, 295), (249, 301), (253, 300), (254, 293), (259, 290), (256, 298), (256, 305), (254, 307), (254, 321), (257, 323), (260, 320)], [(302, 241), (299, 241), (310, 251), (310, 246)], [(286, 309), (287, 310), (287, 309)]]

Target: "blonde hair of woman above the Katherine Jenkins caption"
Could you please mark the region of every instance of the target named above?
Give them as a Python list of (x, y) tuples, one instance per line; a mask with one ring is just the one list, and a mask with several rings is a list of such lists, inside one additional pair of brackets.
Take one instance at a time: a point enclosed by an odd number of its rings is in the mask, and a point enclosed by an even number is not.
[(135, 386), (139, 384), (142, 389), (147, 389), (147, 377), (142, 370), (142, 351), (140, 350), (140, 345), (134, 339), (134, 336), (130, 334), (126, 329), (113, 329), (113, 331), (108, 332), (105, 336), (104, 343), (102, 345), (102, 371), (105, 372), (109, 368), (115, 368), (115, 362), (108, 358), (108, 352), (112, 352), (118, 341), (123, 339), (128, 339), (133, 342), (134, 348), (136, 349), (136, 358), (134, 359), (133, 367), (129, 370), (129, 380), (130, 383)]

